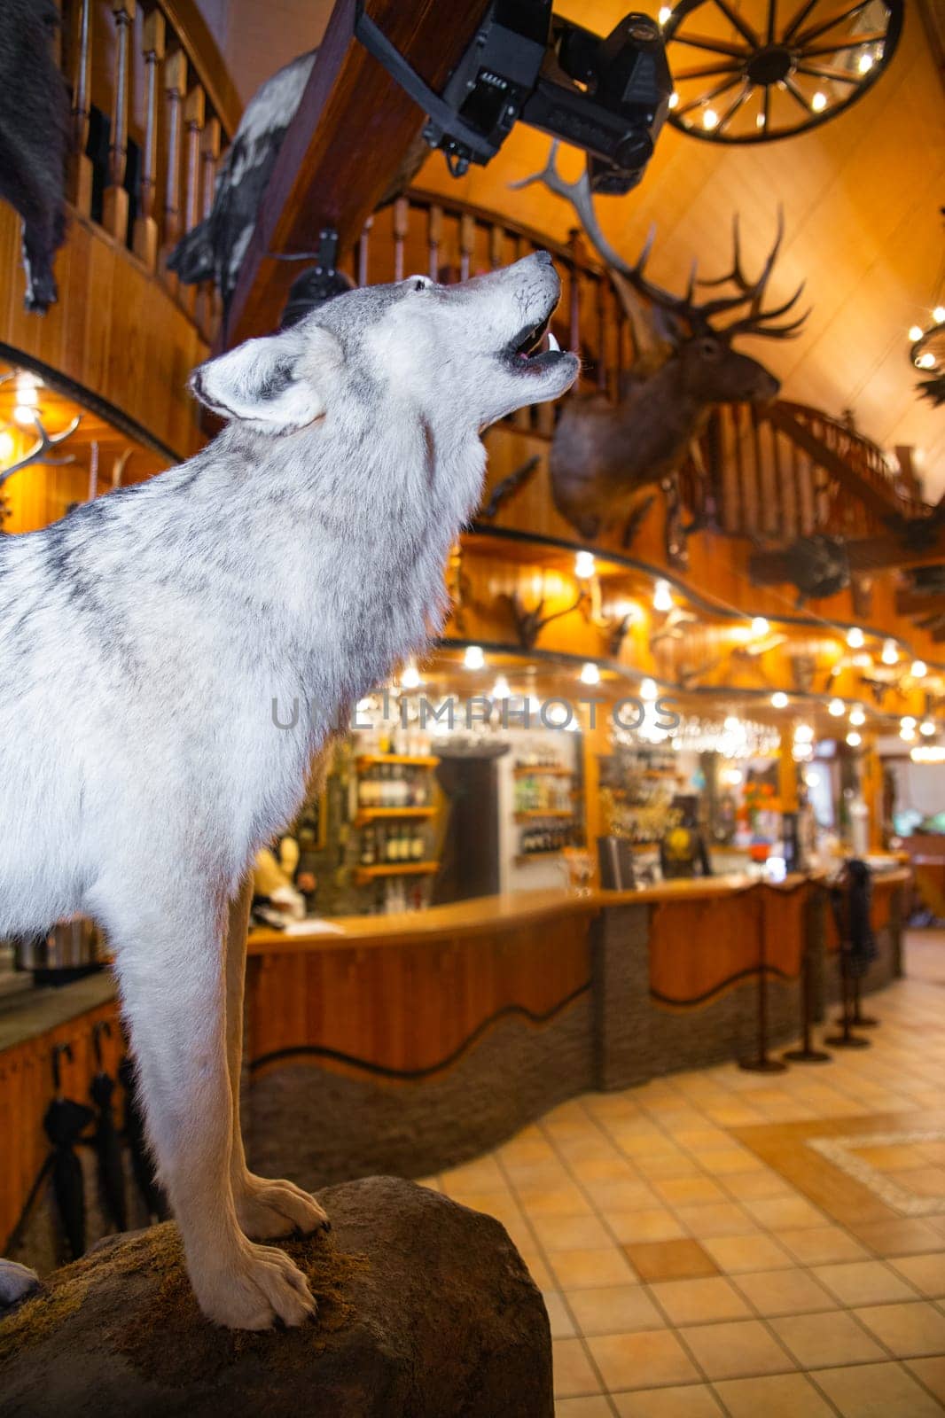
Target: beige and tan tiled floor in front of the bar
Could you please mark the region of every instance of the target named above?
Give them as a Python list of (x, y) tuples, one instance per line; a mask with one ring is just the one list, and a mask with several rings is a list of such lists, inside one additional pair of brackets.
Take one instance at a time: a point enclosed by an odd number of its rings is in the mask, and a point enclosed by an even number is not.
[(430, 1178), (545, 1292), (558, 1418), (941, 1418), (945, 990), (870, 1011), (870, 1049), (589, 1093)]

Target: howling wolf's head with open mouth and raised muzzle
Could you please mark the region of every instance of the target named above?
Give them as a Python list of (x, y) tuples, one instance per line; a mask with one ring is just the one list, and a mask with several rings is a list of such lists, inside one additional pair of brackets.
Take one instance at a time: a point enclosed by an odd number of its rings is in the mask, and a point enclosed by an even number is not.
[(280, 335), (201, 364), (190, 389), (221, 418), (274, 437), (350, 397), (403, 400), (436, 425), (485, 428), (558, 398), (578, 374), (548, 325), (560, 282), (546, 251), (460, 285), (413, 275), (335, 296)]

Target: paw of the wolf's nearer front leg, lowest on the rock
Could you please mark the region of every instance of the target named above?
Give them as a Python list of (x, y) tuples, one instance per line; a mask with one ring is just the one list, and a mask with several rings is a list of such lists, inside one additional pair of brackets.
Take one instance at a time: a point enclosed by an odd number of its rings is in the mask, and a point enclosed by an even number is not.
[(295, 1327), (315, 1313), (308, 1280), (275, 1246), (247, 1241), (227, 1265), (194, 1269), (197, 1303), (214, 1324), (261, 1330), (281, 1320)]

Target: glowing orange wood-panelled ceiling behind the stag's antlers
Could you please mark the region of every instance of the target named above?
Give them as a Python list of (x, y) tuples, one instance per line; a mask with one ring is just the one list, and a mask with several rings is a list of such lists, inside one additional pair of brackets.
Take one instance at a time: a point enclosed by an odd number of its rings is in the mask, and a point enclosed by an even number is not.
[[(629, 9), (627, 0), (555, 3), (602, 34)], [(417, 182), (565, 238), (575, 225), (569, 206), (538, 186), (509, 190), (542, 166), (546, 152), (546, 138), (519, 126), (488, 167), (457, 182), (437, 153)], [(580, 164), (576, 152), (565, 152), (566, 176)], [(751, 147), (698, 142), (667, 126), (641, 186), (624, 199), (599, 199), (597, 208), (606, 234), (629, 255), (656, 223), (648, 274), (682, 289), (694, 257), (707, 277), (729, 268), (735, 213), (746, 255), (763, 257), (779, 203), (786, 235), (772, 289), (786, 295), (806, 281), (813, 313), (799, 339), (745, 340), (745, 349), (783, 380), (785, 397), (831, 414), (851, 408), (884, 448), (921, 450), (927, 496), (941, 496), (945, 408), (917, 397), (907, 339), (911, 325), (929, 323), (934, 299), (945, 298), (936, 291), (945, 250), (945, 98), (915, 0), (907, 3), (888, 72), (847, 113), (803, 136)]]

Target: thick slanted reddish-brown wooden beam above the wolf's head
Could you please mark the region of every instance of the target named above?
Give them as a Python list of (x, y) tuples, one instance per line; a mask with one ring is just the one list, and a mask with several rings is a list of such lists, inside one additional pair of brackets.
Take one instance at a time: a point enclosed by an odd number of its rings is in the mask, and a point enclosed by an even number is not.
[[(465, 52), (488, 0), (369, 0), (368, 13), (437, 92)], [(333, 227), (349, 247), (375, 210), (424, 115), (353, 33), (355, 0), (336, 0), (295, 119), (260, 206), (233, 296), (227, 346), (278, 325), (295, 262)]]

